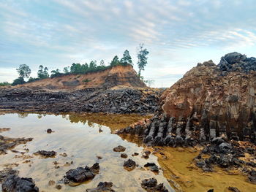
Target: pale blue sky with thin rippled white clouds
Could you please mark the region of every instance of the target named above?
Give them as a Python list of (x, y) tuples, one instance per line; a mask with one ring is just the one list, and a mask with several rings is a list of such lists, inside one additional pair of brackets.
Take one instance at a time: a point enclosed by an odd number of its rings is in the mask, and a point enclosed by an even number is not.
[(108, 64), (137, 47), (149, 51), (142, 75), (170, 87), (197, 63), (226, 53), (256, 57), (254, 0), (0, 0), (0, 82), (20, 64), (63, 69), (101, 59)]

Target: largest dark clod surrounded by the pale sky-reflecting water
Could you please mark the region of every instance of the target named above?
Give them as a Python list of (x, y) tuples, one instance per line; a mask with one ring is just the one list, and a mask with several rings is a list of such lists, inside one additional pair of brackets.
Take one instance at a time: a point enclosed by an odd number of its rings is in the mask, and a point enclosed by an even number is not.
[(70, 169), (66, 173), (64, 178), (64, 183), (82, 183), (86, 180), (92, 180), (95, 177), (95, 174), (99, 172), (99, 164), (95, 163), (93, 166), (78, 167), (77, 169)]

